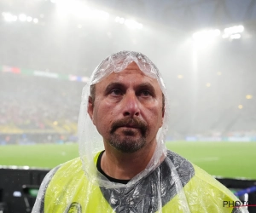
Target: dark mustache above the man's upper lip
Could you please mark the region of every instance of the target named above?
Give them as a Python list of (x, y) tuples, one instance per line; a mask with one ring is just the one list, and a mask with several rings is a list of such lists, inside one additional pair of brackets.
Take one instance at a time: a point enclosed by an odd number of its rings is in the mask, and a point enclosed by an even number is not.
[(110, 133), (113, 134), (113, 132), (119, 127), (125, 126), (140, 129), (142, 135), (145, 135), (146, 131), (148, 130), (146, 122), (139, 118), (121, 118), (113, 122), (113, 124), (111, 125)]

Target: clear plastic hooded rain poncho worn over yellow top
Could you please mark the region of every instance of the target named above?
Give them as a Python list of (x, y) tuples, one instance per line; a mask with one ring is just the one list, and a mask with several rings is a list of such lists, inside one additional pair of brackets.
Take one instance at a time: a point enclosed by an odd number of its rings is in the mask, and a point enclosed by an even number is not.
[[(133, 61), (160, 84), (165, 97), (165, 115), (157, 134), (157, 147), (146, 169), (127, 184), (121, 184), (109, 181), (96, 168), (95, 156), (104, 146), (87, 107), (90, 85), (99, 83), (112, 72), (122, 72)], [(224, 208), (224, 201), (238, 199), (212, 176), (166, 150), (168, 110), (165, 84), (147, 56), (122, 51), (102, 60), (83, 89), (79, 114), (80, 158), (49, 172), (32, 212), (247, 212), (242, 208)], [(161, 161), (163, 154), (166, 158)]]

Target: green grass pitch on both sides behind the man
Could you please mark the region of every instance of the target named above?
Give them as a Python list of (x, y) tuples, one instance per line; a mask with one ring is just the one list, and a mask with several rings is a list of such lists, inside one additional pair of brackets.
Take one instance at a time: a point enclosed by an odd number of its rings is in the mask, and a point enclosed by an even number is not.
[[(167, 142), (166, 147), (212, 176), (256, 179), (256, 142)], [(53, 168), (79, 157), (77, 144), (0, 146), (0, 165)]]

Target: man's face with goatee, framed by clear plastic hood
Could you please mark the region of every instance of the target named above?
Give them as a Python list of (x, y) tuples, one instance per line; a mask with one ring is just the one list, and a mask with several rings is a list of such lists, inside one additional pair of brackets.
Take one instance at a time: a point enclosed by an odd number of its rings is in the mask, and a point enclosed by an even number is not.
[(162, 102), (157, 80), (132, 62), (96, 83), (88, 112), (105, 143), (122, 153), (134, 153), (156, 142), (163, 122)]

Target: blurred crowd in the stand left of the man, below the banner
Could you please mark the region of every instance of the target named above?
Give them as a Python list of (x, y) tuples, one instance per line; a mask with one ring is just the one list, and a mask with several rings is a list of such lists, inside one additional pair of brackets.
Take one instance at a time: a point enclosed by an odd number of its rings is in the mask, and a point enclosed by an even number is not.
[(13, 73), (0, 75), (2, 142), (68, 141), (76, 134), (83, 83)]

